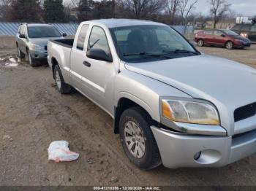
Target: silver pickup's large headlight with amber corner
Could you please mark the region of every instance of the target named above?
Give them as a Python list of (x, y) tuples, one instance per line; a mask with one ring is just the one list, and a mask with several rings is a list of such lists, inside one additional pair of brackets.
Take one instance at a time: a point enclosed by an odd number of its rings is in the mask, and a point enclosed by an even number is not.
[(219, 125), (217, 109), (204, 101), (162, 99), (162, 117), (175, 122)]

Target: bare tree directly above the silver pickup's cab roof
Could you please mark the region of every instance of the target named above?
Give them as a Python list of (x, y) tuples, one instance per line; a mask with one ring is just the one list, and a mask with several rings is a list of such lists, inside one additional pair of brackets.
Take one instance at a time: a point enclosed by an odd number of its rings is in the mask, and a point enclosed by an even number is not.
[(130, 14), (137, 18), (146, 18), (158, 14), (166, 5), (166, 0), (123, 0)]

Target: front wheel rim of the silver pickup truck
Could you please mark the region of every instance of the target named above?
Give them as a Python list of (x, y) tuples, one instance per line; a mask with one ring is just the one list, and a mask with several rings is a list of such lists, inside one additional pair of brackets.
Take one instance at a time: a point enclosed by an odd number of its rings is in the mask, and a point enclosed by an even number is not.
[(134, 157), (141, 158), (145, 155), (145, 138), (135, 122), (129, 121), (125, 124), (124, 141), (127, 145), (127, 149)]

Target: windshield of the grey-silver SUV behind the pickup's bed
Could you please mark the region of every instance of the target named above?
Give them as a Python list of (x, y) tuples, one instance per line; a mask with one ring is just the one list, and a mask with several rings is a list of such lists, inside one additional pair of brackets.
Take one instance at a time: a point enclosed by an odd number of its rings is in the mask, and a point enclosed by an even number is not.
[(29, 26), (29, 38), (46, 38), (61, 36), (59, 31), (53, 26)]

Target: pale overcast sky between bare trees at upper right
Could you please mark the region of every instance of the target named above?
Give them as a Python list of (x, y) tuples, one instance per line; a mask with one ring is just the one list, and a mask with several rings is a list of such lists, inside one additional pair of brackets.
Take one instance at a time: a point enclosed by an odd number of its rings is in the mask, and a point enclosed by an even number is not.
[[(229, 2), (231, 4), (230, 9), (233, 9), (237, 14), (242, 14), (244, 16), (256, 15), (256, 0), (229, 0)], [(209, 9), (208, 0), (198, 0), (194, 12), (202, 12), (203, 15), (207, 15)]]

